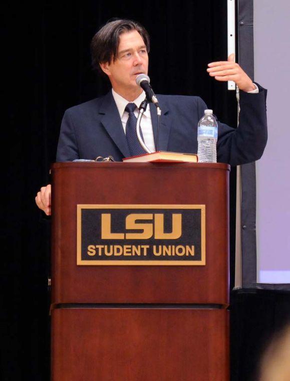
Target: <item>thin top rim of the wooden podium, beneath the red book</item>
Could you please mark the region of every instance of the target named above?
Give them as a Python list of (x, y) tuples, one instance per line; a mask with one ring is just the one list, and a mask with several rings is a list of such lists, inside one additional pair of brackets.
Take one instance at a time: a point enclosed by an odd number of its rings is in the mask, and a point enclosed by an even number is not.
[(52, 169), (60, 168), (149, 168), (149, 167), (180, 167), (180, 168), (205, 168), (205, 169), (223, 169), (230, 170), (230, 165), (225, 163), (181, 163), (181, 162), (153, 162), (153, 163), (126, 163), (120, 161), (114, 162), (87, 162), (87, 161), (66, 161), (52, 164)]

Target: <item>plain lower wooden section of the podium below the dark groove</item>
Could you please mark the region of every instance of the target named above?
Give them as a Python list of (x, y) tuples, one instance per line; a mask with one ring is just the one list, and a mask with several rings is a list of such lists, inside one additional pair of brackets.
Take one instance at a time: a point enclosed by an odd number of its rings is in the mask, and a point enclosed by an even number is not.
[(228, 311), (56, 309), (53, 381), (228, 381)]

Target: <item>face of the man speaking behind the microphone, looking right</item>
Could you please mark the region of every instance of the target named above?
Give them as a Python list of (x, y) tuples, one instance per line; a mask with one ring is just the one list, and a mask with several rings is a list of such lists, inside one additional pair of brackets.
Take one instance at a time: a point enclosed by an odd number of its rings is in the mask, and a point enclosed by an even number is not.
[(101, 64), (101, 68), (118, 94), (141, 92), (136, 77), (148, 73), (148, 53), (141, 35), (135, 30), (122, 33), (116, 60)]

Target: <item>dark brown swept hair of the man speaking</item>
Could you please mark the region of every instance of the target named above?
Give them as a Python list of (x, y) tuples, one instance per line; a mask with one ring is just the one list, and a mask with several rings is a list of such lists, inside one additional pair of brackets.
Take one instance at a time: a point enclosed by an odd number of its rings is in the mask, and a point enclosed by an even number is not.
[(93, 37), (91, 42), (92, 67), (103, 72), (100, 63), (117, 59), (120, 35), (124, 32), (137, 31), (140, 33), (147, 52), (150, 50), (150, 39), (146, 29), (133, 20), (114, 20), (104, 25)]

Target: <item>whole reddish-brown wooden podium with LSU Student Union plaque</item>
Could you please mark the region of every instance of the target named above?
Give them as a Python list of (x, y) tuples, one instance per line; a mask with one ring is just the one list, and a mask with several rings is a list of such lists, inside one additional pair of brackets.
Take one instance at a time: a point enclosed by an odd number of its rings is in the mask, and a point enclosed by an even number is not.
[(52, 380), (229, 380), (229, 166), (52, 176)]

